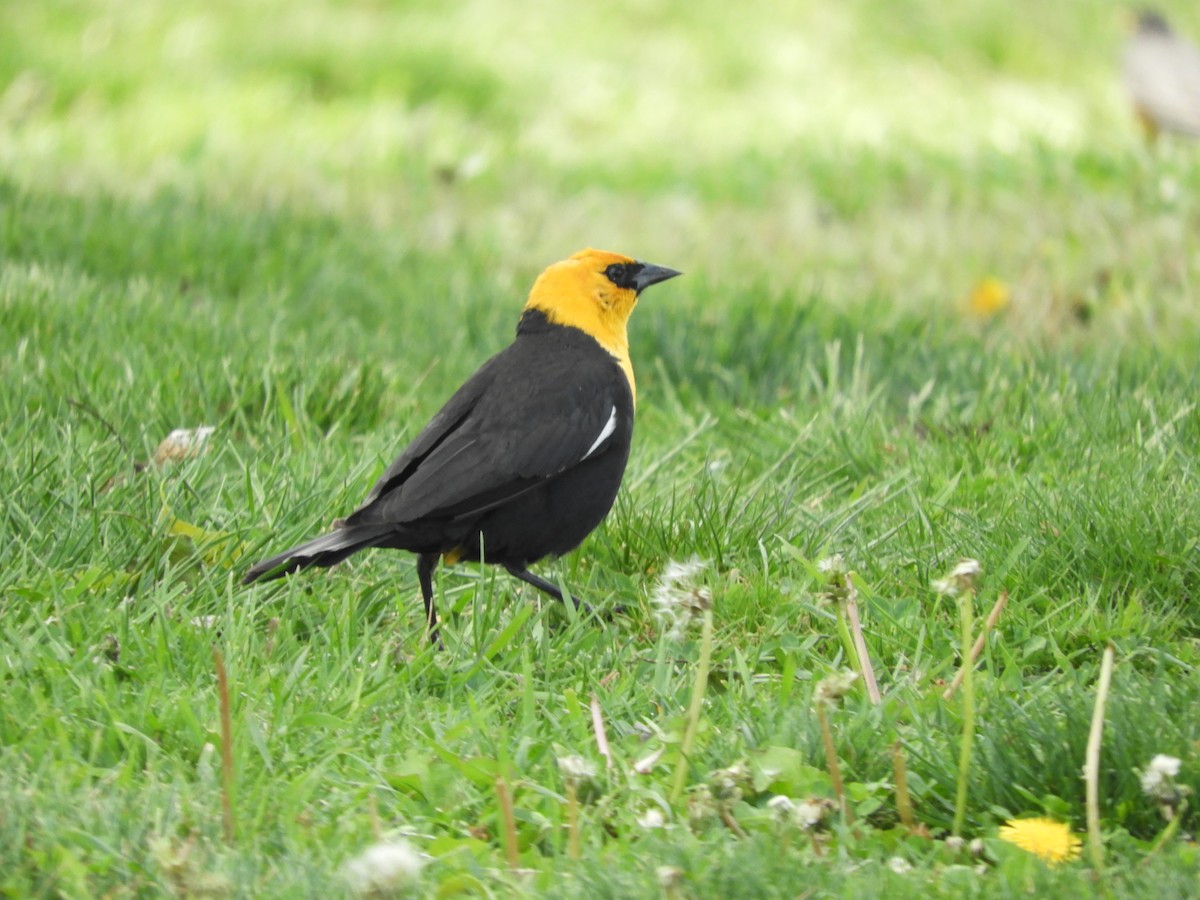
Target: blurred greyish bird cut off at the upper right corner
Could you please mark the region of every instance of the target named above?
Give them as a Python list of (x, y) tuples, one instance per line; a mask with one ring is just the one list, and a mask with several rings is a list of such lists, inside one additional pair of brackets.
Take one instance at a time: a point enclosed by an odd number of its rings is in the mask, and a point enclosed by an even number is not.
[(1200, 137), (1200, 49), (1157, 12), (1141, 12), (1124, 48), (1124, 84), (1151, 137)]

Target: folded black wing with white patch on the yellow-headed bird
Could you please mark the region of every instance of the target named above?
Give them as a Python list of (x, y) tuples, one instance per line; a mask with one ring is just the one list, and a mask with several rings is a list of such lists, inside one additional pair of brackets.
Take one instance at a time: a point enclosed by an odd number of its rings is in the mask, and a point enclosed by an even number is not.
[[(461, 518), (628, 444), (632, 395), (592, 338), (521, 337), (476, 372), (388, 468), (349, 524)], [(548, 343), (548, 346), (547, 346)]]

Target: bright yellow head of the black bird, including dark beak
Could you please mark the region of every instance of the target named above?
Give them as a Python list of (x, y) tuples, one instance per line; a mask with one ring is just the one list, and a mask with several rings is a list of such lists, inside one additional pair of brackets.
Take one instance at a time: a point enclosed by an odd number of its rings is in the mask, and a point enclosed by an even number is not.
[(536, 310), (556, 325), (570, 325), (592, 335), (617, 358), (634, 390), (629, 316), (642, 290), (677, 275), (674, 269), (641, 263), (620, 253), (581, 250), (538, 276), (526, 310)]

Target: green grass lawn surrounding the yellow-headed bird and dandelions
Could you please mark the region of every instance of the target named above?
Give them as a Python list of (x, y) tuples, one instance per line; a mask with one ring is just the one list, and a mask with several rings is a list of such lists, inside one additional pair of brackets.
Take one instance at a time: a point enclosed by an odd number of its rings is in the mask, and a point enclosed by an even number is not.
[[(397, 835), (427, 895), (658, 896), (660, 866), (674, 896), (1194, 893), (1200, 820), (1151, 853), (1139, 773), (1177, 756), (1200, 788), (1200, 157), (1141, 144), (1116, 13), (566, 10), (6, 7), (0, 895), (336, 896)], [(686, 272), (632, 320), (617, 508), (540, 566), (624, 614), (458, 566), (436, 654), (404, 554), (239, 586), (353, 508), (587, 245)], [(988, 276), (1012, 299), (985, 320), (966, 298)], [(199, 425), (206, 454), (145, 466)], [(830, 712), (858, 824), (834, 816), (818, 853), (767, 804), (833, 796), (812, 713), (847, 665), (832, 553), (883, 702)], [(672, 806), (698, 632), (667, 641), (649, 598), (692, 556), (713, 670)], [(960, 557), (977, 612), (1009, 594), (974, 679), (978, 858), (940, 840), (962, 710), (958, 610), (930, 582)], [(1110, 642), (1106, 870), (1049, 868), (997, 828), (1082, 832)], [(896, 742), (934, 840), (899, 824)], [(577, 860), (568, 755), (599, 770)]]

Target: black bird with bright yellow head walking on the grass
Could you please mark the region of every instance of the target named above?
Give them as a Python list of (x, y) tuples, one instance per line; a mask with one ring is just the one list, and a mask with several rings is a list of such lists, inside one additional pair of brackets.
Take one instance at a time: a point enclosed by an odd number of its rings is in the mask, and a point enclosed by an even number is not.
[(458, 389), (362, 505), (331, 533), (258, 563), (244, 583), (366, 547), (407, 550), (418, 554), (436, 642), (438, 557), (503, 565), (562, 600), (528, 566), (574, 550), (612, 509), (634, 432), (625, 325), (642, 290), (677, 275), (596, 250), (550, 266), (516, 340)]

